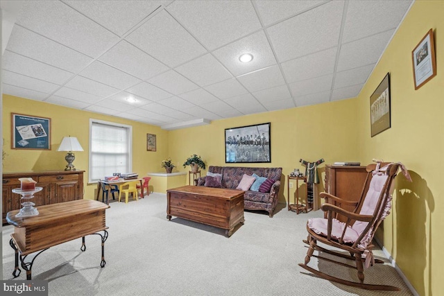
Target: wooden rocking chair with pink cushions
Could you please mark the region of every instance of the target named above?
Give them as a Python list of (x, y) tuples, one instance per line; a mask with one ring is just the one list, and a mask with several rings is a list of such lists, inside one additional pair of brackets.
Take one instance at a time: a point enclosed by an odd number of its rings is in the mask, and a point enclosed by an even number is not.
[[(321, 206), (321, 209), (327, 212), (327, 218), (311, 218), (308, 220), (308, 237), (307, 241), (304, 242), (309, 245), (309, 249), (307, 256), (305, 256), (305, 263), (299, 263), (300, 267), (309, 270), (323, 279), (335, 281), (339, 284), (367, 290), (400, 290), (394, 286), (364, 284), (364, 263), (366, 267), (373, 265), (373, 263), (383, 263), (381, 260), (373, 259), (372, 240), (379, 224), (390, 214), (393, 179), (399, 168), (401, 168), (407, 180), (411, 181), (407, 169), (400, 163), (377, 162), (377, 164), (369, 164), (366, 168), (368, 172), (366, 182), (358, 202), (342, 200), (325, 192), (321, 193), (321, 198), (326, 198), (327, 202)], [(368, 190), (366, 191), (367, 188)], [(332, 204), (333, 202), (334, 204)], [(352, 205), (355, 206), (355, 210), (352, 212), (346, 211), (335, 204)], [(338, 215), (345, 217), (345, 219), (343, 219), (345, 222), (337, 220)], [(345, 250), (349, 252), (350, 255), (327, 250), (317, 245), (318, 242), (336, 247), (340, 250)], [(357, 277), (360, 282), (333, 277), (332, 275), (327, 275), (324, 272), (309, 267), (307, 264), (311, 256), (314, 256), (314, 250), (355, 261), (356, 265), (349, 265), (327, 259), (323, 256), (316, 256), (319, 259), (345, 265), (350, 268), (356, 268)]]

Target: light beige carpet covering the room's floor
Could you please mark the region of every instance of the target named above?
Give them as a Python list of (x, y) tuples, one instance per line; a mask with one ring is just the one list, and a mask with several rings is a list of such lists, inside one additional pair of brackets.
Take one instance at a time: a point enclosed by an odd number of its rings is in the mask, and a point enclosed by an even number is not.
[[(411, 295), (395, 268), (378, 264), (364, 272), (366, 282), (389, 284), (400, 292), (373, 292), (320, 279), (300, 268), (307, 218), (283, 204), (273, 218), (247, 211), (245, 225), (230, 238), (223, 229), (180, 218), (168, 221), (164, 194), (152, 193), (128, 204), (111, 202), (100, 268), (99, 236), (51, 247), (33, 266), (33, 279), (49, 281), (49, 295)], [(12, 279), (12, 227), (3, 227), (3, 277)], [(382, 251), (375, 256), (385, 259)], [(356, 271), (312, 259), (313, 268), (357, 281)], [(26, 272), (17, 279), (26, 279)]]

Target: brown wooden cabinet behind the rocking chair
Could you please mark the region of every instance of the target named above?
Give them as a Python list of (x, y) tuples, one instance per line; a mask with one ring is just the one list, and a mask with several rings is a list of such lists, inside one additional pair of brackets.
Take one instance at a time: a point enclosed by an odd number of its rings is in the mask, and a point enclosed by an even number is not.
[[(366, 166), (325, 166), (325, 192), (342, 198), (357, 202), (361, 197), (362, 187), (366, 182)], [(339, 204), (337, 204), (339, 206)], [(355, 207), (341, 205), (347, 211), (353, 211)], [(339, 215), (338, 219), (345, 218)]]

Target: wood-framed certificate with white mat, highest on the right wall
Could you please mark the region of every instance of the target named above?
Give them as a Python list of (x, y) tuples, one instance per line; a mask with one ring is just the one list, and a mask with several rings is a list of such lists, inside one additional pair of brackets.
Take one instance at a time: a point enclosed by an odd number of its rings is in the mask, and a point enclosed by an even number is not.
[(413, 62), (415, 89), (418, 89), (425, 82), (436, 76), (435, 44), (432, 29), (427, 32), (415, 49), (413, 49), (411, 60)]

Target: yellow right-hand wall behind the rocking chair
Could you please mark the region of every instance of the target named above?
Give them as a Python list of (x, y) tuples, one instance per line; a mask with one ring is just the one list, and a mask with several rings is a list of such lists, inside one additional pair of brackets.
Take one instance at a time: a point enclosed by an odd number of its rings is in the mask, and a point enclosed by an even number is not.
[[(416, 1), (359, 94), (361, 161), (404, 163), (413, 183), (397, 177), (393, 214), (384, 221), (384, 245), (420, 295), (443, 293), (444, 259), (444, 1)], [(437, 75), (415, 90), (411, 51), (434, 29)], [(370, 137), (369, 97), (391, 75), (391, 128)]]

